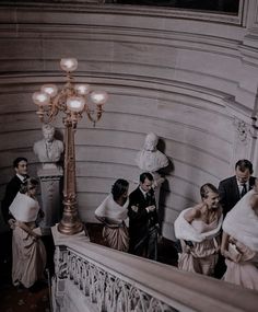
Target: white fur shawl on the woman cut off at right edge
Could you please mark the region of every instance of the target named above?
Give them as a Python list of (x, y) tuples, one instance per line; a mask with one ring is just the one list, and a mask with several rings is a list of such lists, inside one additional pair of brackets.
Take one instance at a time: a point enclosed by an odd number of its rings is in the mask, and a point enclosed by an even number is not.
[(248, 192), (226, 215), (223, 231), (258, 252), (258, 217), (250, 207), (250, 198), (255, 194)]

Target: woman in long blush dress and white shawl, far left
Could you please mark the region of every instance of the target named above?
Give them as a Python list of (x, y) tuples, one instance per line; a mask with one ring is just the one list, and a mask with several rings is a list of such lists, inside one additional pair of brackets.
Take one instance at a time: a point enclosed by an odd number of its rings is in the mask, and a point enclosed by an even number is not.
[(27, 178), (13, 199), (9, 210), (15, 218), (12, 227), (12, 281), (14, 286), (32, 287), (44, 279), (46, 251), (40, 240), (40, 229), (36, 228), (36, 219), (40, 213), (36, 200), (37, 180)]

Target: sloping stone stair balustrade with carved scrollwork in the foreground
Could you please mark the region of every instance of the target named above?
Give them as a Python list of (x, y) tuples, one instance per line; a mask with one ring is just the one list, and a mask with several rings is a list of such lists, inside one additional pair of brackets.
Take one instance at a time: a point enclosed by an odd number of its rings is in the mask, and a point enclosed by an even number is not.
[(54, 312), (257, 311), (255, 291), (52, 232)]

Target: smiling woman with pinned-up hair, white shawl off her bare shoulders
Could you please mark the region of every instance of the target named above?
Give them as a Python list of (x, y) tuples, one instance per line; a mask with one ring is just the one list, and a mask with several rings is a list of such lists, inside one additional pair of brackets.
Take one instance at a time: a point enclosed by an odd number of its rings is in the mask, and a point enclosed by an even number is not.
[(202, 185), (200, 195), (202, 203), (183, 210), (175, 221), (175, 235), (181, 244), (178, 268), (213, 276), (219, 258), (222, 208), (219, 192), (212, 184)]

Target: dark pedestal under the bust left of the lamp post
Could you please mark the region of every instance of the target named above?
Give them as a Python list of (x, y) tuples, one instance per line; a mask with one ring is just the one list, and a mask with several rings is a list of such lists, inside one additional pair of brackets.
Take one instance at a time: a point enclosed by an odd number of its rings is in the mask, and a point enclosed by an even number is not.
[(42, 228), (49, 229), (61, 218), (61, 180), (62, 169), (56, 164), (44, 164), (37, 171), (42, 189), (42, 209), (45, 213)]

